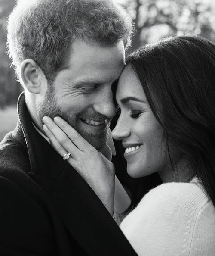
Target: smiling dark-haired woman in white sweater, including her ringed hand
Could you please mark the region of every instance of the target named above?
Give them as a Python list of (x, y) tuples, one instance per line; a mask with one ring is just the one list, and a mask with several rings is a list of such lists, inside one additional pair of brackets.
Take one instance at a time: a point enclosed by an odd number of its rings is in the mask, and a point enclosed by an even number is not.
[[(215, 45), (184, 36), (140, 48), (127, 59), (116, 99), (112, 135), (123, 142), (127, 172), (157, 172), (163, 181), (126, 216), (123, 233), (138, 255), (215, 255)], [(70, 164), (112, 214), (111, 162), (64, 120), (54, 121), (54, 130), (44, 126), (53, 146), (71, 153)], [(56, 124), (70, 138), (61, 147)], [(87, 158), (91, 172), (84, 173)]]

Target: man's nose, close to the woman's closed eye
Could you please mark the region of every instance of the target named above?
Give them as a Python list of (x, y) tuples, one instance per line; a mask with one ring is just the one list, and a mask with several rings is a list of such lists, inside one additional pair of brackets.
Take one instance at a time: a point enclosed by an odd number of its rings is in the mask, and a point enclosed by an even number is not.
[(116, 106), (114, 105), (112, 91), (106, 90), (102, 95), (98, 95), (93, 107), (96, 112), (106, 116), (107, 118), (114, 117), (116, 114)]

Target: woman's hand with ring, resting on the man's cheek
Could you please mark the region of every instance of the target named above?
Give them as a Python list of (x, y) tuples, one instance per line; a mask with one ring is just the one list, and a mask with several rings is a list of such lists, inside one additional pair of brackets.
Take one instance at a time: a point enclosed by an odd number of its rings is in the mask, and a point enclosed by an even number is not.
[[(54, 121), (43, 117), (43, 130), (50, 144), (63, 157), (70, 153), (67, 160), (95, 191), (107, 210), (113, 215), (115, 169), (112, 162), (89, 144), (74, 128), (60, 117)], [(107, 152), (107, 147), (102, 153)]]

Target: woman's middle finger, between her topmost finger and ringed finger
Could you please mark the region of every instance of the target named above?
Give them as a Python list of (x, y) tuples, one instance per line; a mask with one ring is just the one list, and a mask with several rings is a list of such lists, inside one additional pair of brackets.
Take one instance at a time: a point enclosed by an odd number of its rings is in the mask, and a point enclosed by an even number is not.
[(48, 116), (43, 117), (43, 122), (46, 124), (46, 127), (49, 129), (49, 131), (51, 131), (51, 133), (49, 132), (47, 136), (51, 136), (49, 139), (53, 140), (55, 147), (57, 146), (60, 148), (59, 145), (61, 145), (65, 150), (70, 152), (73, 157), (76, 157), (79, 149), (73, 144), (73, 142), (68, 138), (64, 131), (62, 131), (61, 128), (59, 128), (58, 125), (56, 125), (55, 122)]

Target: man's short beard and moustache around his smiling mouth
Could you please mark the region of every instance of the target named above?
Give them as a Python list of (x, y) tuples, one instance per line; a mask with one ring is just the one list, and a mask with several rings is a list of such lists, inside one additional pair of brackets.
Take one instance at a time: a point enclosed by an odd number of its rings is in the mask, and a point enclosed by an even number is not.
[[(53, 86), (53, 85), (52, 85)], [(60, 116), (62, 119), (64, 119), (66, 122), (68, 122), (69, 125), (71, 125), (85, 140), (89, 142), (93, 147), (95, 147), (97, 150), (101, 150), (102, 147), (107, 143), (107, 133), (108, 128), (111, 123), (111, 119), (105, 118), (103, 115), (95, 112), (93, 114), (89, 114), (86, 111), (83, 111), (76, 116), (73, 116), (71, 111), (63, 111), (61, 107), (58, 105), (55, 92), (50, 87), (46, 92), (46, 96), (42, 102), (37, 104), (37, 113), (39, 117), (39, 122), (41, 127), (43, 126), (43, 116), (49, 116), (52, 119), (55, 116)], [(80, 119), (92, 119), (92, 120), (107, 120), (107, 125), (104, 129), (92, 132), (87, 130), (81, 130), (77, 126), (77, 121)], [(79, 121), (80, 122), (80, 121)]]

